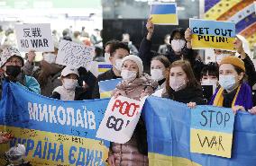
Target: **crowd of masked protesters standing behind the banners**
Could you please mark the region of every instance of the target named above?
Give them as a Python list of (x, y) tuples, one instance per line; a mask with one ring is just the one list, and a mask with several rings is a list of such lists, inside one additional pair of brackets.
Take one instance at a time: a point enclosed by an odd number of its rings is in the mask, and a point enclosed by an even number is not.
[[(198, 58), (197, 50), (191, 45), (191, 30), (177, 28), (164, 38), (156, 53), (151, 50), (154, 24), (151, 19), (146, 25), (146, 35), (137, 49), (129, 34), (123, 40), (113, 39), (105, 43), (103, 50), (100, 31), (91, 36), (82, 31), (62, 32), (55, 38), (54, 51), (44, 52), (37, 65), (35, 52), (26, 54), (26, 60), (7, 38), (1, 45), (1, 86), (4, 81), (17, 83), (31, 92), (58, 100), (92, 100), (100, 98), (98, 82), (122, 78), (113, 91), (119, 95), (141, 100), (153, 95), (187, 104), (193, 109), (197, 105), (213, 105), (256, 114), (256, 97), (252, 87), (256, 83), (256, 71), (251, 61), (249, 44), (241, 35), (233, 42), (236, 53), (215, 49), (215, 62), (205, 64)], [(7, 33), (7, 32), (5, 32)], [(10, 33), (10, 34), (9, 34)], [(96, 47), (95, 61), (107, 62), (113, 67), (103, 74), (94, 75), (84, 67), (78, 69), (55, 63), (59, 39), (67, 39), (87, 46)], [(211, 85), (215, 92), (204, 89)], [(205, 87), (206, 88), (206, 87)], [(192, 110), (191, 110), (192, 111)], [(0, 143), (9, 137), (0, 135)], [(11, 138), (10, 138), (11, 139)], [(146, 129), (140, 118), (132, 139), (125, 144), (112, 143), (108, 162), (110, 165), (148, 165)]]

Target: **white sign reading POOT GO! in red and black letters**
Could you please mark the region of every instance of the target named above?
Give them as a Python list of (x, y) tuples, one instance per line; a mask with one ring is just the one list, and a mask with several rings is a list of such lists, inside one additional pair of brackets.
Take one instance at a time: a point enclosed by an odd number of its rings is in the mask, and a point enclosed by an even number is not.
[(145, 99), (111, 98), (96, 137), (119, 144), (127, 143), (139, 121)]

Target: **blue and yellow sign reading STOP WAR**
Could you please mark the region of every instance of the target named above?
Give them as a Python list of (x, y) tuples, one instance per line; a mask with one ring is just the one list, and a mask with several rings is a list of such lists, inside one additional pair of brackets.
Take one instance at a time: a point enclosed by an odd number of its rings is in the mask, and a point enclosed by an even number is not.
[(233, 122), (232, 109), (213, 106), (191, 109), (190, 152), (231, 158)]

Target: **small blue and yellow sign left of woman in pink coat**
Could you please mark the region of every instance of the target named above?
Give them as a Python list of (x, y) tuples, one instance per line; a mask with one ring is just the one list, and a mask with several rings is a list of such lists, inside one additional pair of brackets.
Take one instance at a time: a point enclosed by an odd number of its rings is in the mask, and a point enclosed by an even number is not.
[(122, 81), (122, 78), (105, 80), (98, 82), (100, 99), (111, 98), (111, 93), (118, 83)]

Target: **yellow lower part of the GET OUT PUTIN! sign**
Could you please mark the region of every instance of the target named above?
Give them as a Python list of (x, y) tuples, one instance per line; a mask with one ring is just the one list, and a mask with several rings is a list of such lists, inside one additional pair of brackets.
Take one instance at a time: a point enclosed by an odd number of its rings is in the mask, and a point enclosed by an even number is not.
[[(235, 38), (226, 38), (225, 42), (223, 42), (220, 36), (207, 36), (204, 35), (202, 39), (198, 39), (197, 34), (192, 34), (192, 48), (219, 48), (219, 49), (226, 49), (226, 50), (234, 50), (233, 48), (233, 41)], [(209, 38), (209, 39), (208, 39)], [(206, 41), (209, 40), (209, 41)], [(213, 42), (214, 40), (214, 42)], [(218, 42), (217, 42), (218, 41)], [(221, 42), (219, 42), (221, 41)]]

